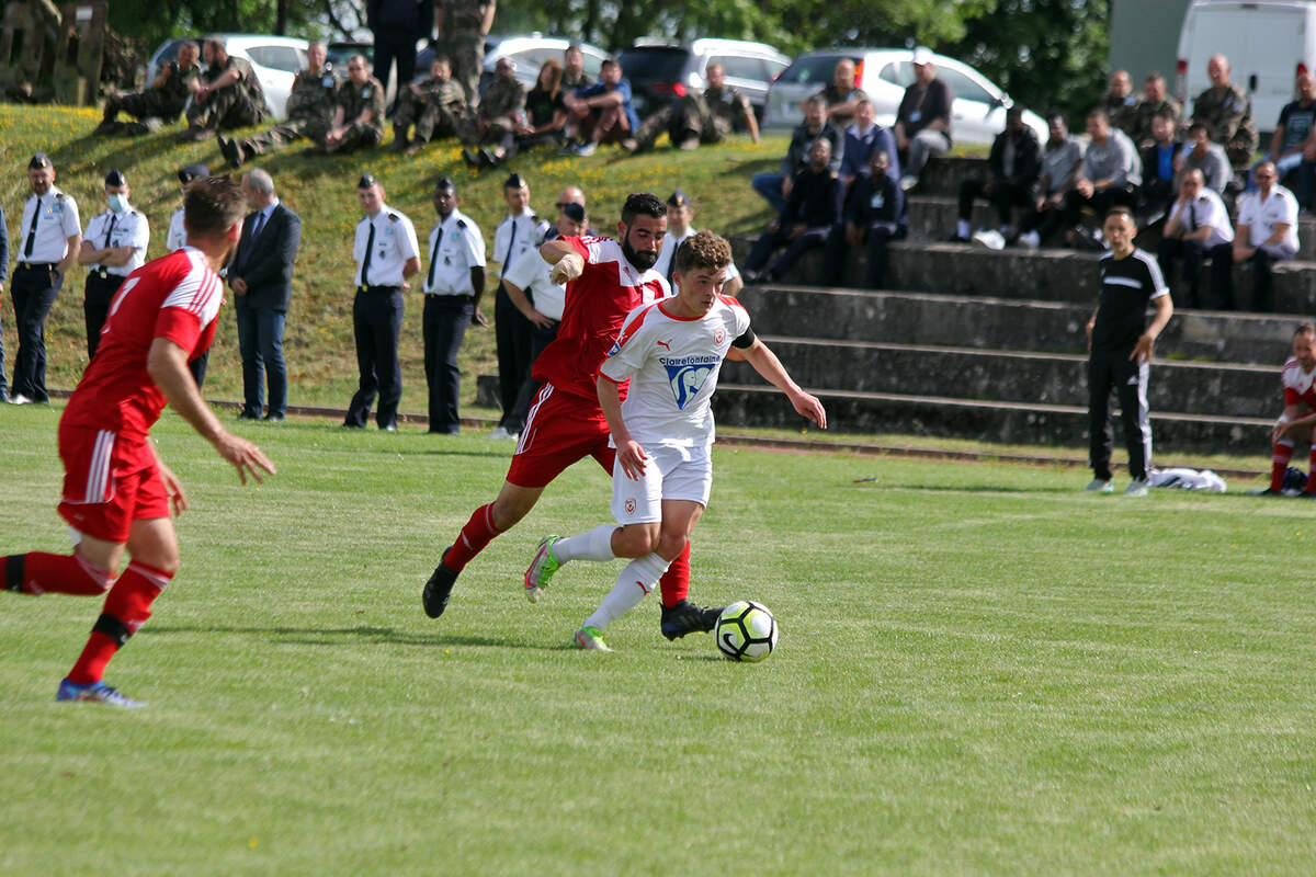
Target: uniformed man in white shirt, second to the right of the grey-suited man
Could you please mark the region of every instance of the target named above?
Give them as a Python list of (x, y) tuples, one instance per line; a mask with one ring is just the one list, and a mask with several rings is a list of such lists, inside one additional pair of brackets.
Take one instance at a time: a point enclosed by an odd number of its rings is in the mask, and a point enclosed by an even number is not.
[(475, 222), (457, 209), (457, 184), (443, 178), (434, 185), (438, 225), (429, 233), (429, 271), (425, 272), (425, 381), (429, 384), (429, 431), (457, 435), (457, 401), (462, 371), (457, 351), (471, 320), (487, 326), (480, 313), (484, 292), (484, 238)]

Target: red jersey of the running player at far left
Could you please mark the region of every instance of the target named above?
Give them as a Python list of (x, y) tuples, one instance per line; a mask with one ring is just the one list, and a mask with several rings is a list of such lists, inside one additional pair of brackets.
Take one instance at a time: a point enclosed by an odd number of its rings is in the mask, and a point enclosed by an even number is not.
[(184, 247), (128, 275), (109, 306), (100, 346), (61, 418), (145, 438), (166, 398), (146, 371), (151, 342), (167, 338), (196, 359), (215, 338), (224, 287), (200, 250)]

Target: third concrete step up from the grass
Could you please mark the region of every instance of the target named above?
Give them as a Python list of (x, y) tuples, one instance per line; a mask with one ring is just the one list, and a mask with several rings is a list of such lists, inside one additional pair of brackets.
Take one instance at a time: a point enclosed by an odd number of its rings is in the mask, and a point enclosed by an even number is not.
[[(779, 284), (737, 297), (766, 335), (1055, 354), (1083, 350), (1092, 316), (1091, 304)], [(1177, 310), (1157, 359), (1261, 364), (1278, 375), (1294, 323), (1290, 316)]]

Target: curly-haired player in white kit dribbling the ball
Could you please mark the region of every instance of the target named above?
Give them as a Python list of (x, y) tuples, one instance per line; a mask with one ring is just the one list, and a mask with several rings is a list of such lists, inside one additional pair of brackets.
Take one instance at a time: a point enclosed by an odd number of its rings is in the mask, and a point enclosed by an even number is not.
[[(572, 638), (579, 648), (611, 651), (603, 628), (653, 590), (708, 505), (709, 400), (724, 359), (747, 360), (800, 415), (826, 429), (822, 404), (800, 389), (754, 337), (745, 308), (721, 295), (730, 262), (730, 246), (719, 235), (699, 231), (687, 239), (676, 251), (676, 295), (632, 310), (599, 369), (599, 404), (617, 448), (612, 513), (621, 526), (549, 536), (525, 573), (534, 600), (570, 560), (632, 559)], [(626, 380), (630, 392), (622, 402)]]

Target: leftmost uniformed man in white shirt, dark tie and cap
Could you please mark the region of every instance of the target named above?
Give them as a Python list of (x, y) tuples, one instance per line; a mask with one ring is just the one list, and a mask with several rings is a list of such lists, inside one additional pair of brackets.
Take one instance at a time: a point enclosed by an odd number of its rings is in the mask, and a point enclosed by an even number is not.
[(82, 247), (78, 202), (55, 185), (55, 167), (45, 153), (37, 153), (28, 162), (28, 181), (33, 195), (22, 205), (22, 226), (14, 242), (18, 267), (9, 285), (18, 329), (18, 356), (9, 394), (16, 405), (50, 401), (46, 394), (46, 314)]

